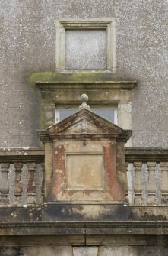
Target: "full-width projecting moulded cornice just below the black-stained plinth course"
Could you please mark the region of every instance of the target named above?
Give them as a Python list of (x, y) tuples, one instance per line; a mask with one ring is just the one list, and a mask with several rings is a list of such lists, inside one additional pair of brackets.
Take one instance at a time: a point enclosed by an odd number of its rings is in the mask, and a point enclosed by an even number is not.
[(168, 235), (168, 221), (1, 222), (0, 235)]

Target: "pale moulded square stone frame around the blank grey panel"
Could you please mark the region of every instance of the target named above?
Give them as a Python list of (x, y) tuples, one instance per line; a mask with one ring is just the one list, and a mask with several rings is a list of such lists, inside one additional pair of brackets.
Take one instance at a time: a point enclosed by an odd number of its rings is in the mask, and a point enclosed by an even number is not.
[[(61, 19), (56, 21), (56, 70), (59, 72), (86, 72), (85, 70), (65, 70), (65, 29), (105, 29), (106, 30), (106, 70), (94, 70), (99, 73), (116, 72), (116, 21), (115, 18)], [(89, 72), (89, 70), (87, 70)], [(93, 72), (93, 70), (90, 70)]]

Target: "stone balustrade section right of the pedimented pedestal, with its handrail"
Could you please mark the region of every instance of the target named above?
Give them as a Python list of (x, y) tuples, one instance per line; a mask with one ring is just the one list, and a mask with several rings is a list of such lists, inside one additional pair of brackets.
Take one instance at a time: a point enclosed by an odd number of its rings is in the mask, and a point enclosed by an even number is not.
[(168, 203), (168, 149), (125, 148), (125, 170), (130, 204)]

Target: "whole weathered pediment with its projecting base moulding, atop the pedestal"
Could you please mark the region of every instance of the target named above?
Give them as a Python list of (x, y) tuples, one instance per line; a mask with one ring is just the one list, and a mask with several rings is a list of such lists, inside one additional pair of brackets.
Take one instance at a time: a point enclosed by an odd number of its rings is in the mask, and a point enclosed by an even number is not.
[(46, 128), (44, 131), (38, 131), (38, 133), (42, 141), (58, 137), (77, 139), (81, 136), (88, 139), (95, 136), (95, 138), (105, 139), (110, 137), (127, 141), (131, 136), (131, 131), (124, 131), (119, 126), (85, 108)]

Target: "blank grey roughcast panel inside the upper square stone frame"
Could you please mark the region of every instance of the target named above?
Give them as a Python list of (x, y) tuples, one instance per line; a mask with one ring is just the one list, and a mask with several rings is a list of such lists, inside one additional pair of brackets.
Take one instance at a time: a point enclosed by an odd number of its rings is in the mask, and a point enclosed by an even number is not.
[(106, 30), (65, 30), (65, 70), (106, 70)]

